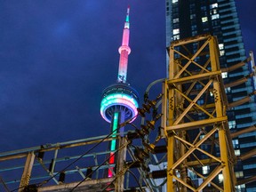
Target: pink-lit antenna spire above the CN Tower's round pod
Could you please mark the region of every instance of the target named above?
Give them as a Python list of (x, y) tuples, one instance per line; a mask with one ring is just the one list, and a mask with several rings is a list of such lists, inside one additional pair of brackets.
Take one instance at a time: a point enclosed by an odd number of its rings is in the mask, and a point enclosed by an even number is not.
[(118, 49), (118, 52), (120, 53), (119, 69), (118, 69), (118, 76), (117, 76), (118, 83), (126, 83), (128, 55), (131, 52), (131, 49), (129, 47), (129, 36), (130, 36), (129, 13), (130, 13), (130, 6), (128, 6), (127, 8), (126, 20), (124, 22), (122, 45)]

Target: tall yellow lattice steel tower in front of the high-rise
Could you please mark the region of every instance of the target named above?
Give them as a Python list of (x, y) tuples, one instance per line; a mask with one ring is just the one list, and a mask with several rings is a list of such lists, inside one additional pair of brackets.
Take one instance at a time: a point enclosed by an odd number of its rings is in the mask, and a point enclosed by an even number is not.
[[(217, 39), (205, 35), (174, 41), (169, 53), (164, 89), (167, 191), (235, 191), (236, 156)], [(199, 171), (204, 167), (206, 175)], [(201, 181), (196, 185), (190, 175)], [(223, 186), (218, 175), (223, 176)]]

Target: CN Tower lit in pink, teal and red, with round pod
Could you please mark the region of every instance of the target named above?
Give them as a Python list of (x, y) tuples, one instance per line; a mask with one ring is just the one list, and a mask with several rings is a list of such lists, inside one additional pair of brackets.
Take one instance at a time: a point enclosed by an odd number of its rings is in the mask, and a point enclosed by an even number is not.
[[(117, 132), (120, 132), (121, 136), (123, 136), (124, 127), (117, 129), (118, 124), (122, 124), (129, 119), (132, 122), (138, 115), (138, 93), (132, 88), (132, 86), (130, 86), (130, 84), (127, 84), (126, 81), (128, 56), (131, 53), (131, 48), (129, 47), (129, 13), (130, 7), (128, 6), (124, 22), (122, 45), (118, 49), (118, 52), (120, 53), (120, 60), (117, 81), (116, 84), (111, 84), (103, 91), (100, 103), (100, 114), (108, 123), (111, 124), (113, 137), (115, 137)], [(116, 140), (111, 140), (109, 150), (110, 158), (108, 163), (115, 164), (116, 156), (114, 156), (114, 153), (116, 150)], [(108, 177), (113, 176), (112, 171), (113, 169), (108, 169)]]

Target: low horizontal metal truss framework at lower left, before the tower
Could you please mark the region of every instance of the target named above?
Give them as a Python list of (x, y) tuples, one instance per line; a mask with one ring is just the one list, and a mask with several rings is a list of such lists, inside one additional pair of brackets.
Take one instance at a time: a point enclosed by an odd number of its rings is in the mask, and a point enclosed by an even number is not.
[[(142, 190), (148, 185), (148, 181), (145, 180), (145, 175), (144, 179), (142, 178), (143, 174), (134, 178), (135, 174), (138, 176), (141, 173), (141, 169), (140, 165), (133, 161), (134, 148), (131, 145), (127, 147), (129, 143), (126, 134), (127, 132), (124, 133), (124, 137), (109, 134), (0, 153), (0, 190), (6, 192), (129, 191), (136, 188)], [(115, 151), (115, 155), (119, 152), (123, 154), (119, 156), (120, 164), (108, 164), (107, 156), (110, 151), (106, 149), (110, 140), (120, 142)], [(106, 174), (110, 167), (116, 167), (113, 169), (112, 178), (108, 178)]]

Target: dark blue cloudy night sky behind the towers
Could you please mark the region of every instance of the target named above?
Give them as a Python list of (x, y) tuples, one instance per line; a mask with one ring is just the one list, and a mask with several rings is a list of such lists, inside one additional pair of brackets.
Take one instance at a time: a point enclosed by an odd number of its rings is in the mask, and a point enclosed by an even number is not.
[[(142, 100), (165, 77), (164, 0), (0, 2), (0, 152), (109, 133), (100, 98), (116, 83), (128, 4), (127, 81)], [(256, 1), (237, 8), (246, 52), (256, 55)]]

